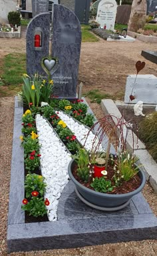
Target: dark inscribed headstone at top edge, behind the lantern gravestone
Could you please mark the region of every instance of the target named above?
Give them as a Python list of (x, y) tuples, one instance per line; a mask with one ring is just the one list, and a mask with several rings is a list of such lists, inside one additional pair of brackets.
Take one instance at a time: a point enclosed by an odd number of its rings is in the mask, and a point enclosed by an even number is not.
[(32, 0), (33, 17), (39, 13), (47, 13), (49, 11), (49, 0)]

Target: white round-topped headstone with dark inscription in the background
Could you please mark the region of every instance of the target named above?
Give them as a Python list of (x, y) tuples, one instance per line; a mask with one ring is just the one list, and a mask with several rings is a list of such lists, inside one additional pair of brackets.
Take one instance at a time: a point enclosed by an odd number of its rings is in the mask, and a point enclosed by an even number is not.
[(101, 0), (98, 4), (98, 11), (96, 21), (101, 27), (114, 30), (114, 23), (116, 19), (116, 1), (115, 0)]

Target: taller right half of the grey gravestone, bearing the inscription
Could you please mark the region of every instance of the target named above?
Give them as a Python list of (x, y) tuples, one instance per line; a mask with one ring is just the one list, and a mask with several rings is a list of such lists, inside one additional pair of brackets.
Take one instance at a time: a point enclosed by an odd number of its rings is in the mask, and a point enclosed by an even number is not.
[(58, 59), (53, 72), (54, 95), (75, 98), (77, 95), (81, 31), (77, 16), (62, 5), (54, 5), (52, 56)]

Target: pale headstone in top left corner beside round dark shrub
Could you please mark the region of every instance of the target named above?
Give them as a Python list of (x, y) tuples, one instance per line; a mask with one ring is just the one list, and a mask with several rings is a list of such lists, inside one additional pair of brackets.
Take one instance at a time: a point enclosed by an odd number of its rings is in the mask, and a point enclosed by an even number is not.
[(0, 23), (9, 23), (7, 15), (9, 11), (17, 11), (17, 0), (0, 0)]

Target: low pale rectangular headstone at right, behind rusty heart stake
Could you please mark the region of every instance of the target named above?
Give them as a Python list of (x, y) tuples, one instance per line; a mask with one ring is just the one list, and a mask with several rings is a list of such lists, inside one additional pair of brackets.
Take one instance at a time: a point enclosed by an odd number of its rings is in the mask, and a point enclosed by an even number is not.
[[(157, 77), (155, 75), (129, 75), (126, 80), (124, 103), (157, 104)], [(130, 101), (130, 95), (135, 99)]]

